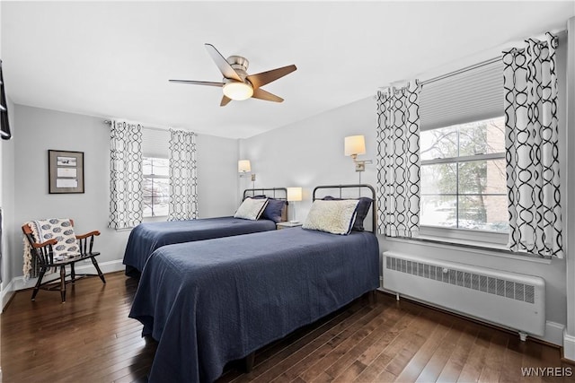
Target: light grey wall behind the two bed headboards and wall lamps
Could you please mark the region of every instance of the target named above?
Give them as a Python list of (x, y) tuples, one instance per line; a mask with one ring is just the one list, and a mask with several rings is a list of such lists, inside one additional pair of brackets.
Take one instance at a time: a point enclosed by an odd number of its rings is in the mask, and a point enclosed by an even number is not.
[[(351, 158), (343, 155), (343, 138), (366, 136), (366, 155), (376, 159), (376, 101), (358, 100), (295, 124), (240, 140), (240, 158), (250, 160), (256, 187), (303, 187), (304, 200), (295, 203), (296, 218), (304, 218), (317, 185), (358, 183)], [(374, 185), (375, 165), (367, 165), (362, 182)], [(241, 187), (251, 187), (249, 179)], [(290, 209), (291, 210), (291, 209)]]

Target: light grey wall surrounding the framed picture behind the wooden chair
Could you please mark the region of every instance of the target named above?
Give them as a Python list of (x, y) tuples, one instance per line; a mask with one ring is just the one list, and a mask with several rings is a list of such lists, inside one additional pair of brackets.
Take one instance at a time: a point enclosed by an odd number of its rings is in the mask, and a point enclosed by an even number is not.
[[(107, 229), (109, 132), (102, 118), (16, 106), (19, 135), (15, 137), (14, 222), (70, 217), (78, 233), (99, 230), (99, 262), (121, 259), (129, 231)], [(83, 194), (48, 193), (48, 150), (84, 152)], [(22, 275), (22, 233), (13, 236), (13, 275)]]

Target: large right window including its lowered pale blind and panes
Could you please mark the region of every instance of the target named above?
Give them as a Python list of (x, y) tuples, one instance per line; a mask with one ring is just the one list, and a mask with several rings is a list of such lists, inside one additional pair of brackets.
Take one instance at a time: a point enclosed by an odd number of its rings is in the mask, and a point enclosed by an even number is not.
[(500, 60), (423, 83), (420, 232), (505, 243), (509, 231)]

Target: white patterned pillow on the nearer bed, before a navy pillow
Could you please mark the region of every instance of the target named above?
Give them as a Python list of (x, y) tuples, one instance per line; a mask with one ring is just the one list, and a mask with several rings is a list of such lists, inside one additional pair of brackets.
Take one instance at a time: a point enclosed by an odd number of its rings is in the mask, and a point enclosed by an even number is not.
[(304, 229), (347, 235), (356, 220), (357, 199), (341, 201), (315, 200), (305, 218)]

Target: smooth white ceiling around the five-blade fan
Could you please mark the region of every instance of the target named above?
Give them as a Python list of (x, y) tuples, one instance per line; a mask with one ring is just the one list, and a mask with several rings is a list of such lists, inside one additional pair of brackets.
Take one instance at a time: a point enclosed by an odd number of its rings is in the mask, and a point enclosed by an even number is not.
[[(149, 126), (248, 137), (446, 70), (465, 57), (563, 29), (575, 2), (0, 2), (4, 81), (13, 102)], [(204, 43), (284, 98), (232, 101)], [(489, 58), (489, 57), (486, 57)]]

